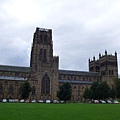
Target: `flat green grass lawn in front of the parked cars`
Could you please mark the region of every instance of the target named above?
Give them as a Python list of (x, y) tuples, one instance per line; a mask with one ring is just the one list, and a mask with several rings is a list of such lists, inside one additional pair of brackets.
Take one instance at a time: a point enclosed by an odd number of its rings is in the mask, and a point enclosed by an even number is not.
[(120, 104), (0, 103), (0, 120), (120, 120)]

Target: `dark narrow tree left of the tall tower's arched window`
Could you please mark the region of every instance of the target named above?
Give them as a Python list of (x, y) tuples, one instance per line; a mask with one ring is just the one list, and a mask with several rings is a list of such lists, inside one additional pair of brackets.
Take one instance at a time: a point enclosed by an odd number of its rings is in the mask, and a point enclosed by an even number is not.
[(21, 97), (22, 99), (27, 99), (29, 93), (31, 92), (31, 87), (28, 81), (25, 81), (21, 86)]

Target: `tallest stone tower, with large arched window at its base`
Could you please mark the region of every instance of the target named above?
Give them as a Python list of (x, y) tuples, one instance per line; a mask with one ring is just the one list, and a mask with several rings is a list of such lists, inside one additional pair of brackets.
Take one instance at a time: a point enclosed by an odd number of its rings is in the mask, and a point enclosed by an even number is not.
[(52, 30), (36, 28), (31, 50), (31, 99), (57, 99), (59, 57), (53, 56)]

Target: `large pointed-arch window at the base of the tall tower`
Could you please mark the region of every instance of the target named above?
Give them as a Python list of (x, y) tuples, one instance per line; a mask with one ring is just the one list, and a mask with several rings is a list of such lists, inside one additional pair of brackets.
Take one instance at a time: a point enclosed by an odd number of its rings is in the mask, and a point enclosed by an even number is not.
[(50, 94), (50, 78), (45, 74), (42, 78), (41, 94)]

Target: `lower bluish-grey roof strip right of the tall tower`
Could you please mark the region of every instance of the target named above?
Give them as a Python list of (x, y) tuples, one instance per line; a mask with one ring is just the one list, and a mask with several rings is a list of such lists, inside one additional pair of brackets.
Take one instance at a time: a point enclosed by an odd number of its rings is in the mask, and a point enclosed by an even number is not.
[(59, 80), (60, 83), (71, 83), (71, 84), (92, 84), (91, 81), (78, 81), (78, 80)]

